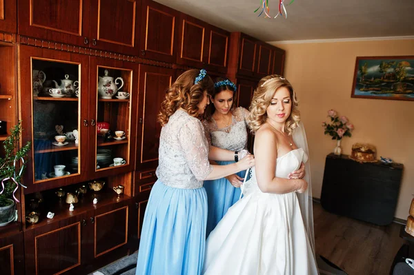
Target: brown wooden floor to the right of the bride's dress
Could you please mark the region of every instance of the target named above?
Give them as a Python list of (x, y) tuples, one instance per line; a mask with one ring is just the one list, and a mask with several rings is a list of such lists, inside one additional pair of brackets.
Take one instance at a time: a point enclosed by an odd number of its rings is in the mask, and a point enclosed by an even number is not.
[(397, 223), (377, 226), (326, 212), (313, 203), (316, 253), (349, 275), (389, 274), (404, 243)]

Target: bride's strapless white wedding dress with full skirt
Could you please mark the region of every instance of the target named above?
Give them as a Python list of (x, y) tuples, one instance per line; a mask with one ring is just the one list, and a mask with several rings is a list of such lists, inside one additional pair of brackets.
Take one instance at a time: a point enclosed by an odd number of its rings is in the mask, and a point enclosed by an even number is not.
[[(302, 148), (280, 156), (276, 176), (287, 178), (307, 160)], [(263, 193), (254, 167), (250, 171), (244, 197), (207, 239), (203, 274), (318, 274), (297, 193)]]

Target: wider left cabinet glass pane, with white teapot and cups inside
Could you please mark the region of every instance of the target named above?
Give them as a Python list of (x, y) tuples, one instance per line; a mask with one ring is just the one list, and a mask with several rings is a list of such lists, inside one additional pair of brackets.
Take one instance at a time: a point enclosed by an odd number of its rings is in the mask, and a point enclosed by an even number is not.
[(80, 171), (80, 65), (32, 59), (34, 181)]

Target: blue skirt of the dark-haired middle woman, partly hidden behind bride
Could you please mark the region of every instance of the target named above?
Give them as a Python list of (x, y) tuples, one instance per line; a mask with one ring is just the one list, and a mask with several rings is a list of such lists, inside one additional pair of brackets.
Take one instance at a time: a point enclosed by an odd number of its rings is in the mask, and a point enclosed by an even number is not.
[[(228, 165), (234, 161), (216, 161), (218, 165)], [(246, 171), (237, 173), (237, 176), (244, 178)], [(226, 214), (228, 208), (232, 207), (240, 197), (240, 188), (236, 188), (226, 179), (204, 181), (208, 199), (208, 218), (206, 238), (214, 230), (221, 218)]]

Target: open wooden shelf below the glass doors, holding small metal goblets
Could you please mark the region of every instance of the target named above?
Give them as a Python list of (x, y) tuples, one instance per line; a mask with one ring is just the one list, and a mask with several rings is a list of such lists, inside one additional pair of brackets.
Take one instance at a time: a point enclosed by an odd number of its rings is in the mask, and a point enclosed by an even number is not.
[[(97, 198), (98, 203), (94, 205), (92, 203), (93, 199)], [(43, 225), (48, 225), (50, 223), (56, 223), (57, 221), (61, 221), (65, 218), (70, 218), (72, 216), (77, 216), (79, 214), (83, 214), (90, 210), (95, 210), (98, 207), (103, 207), (105, 205), (111, 205), (115, 203), (120, 203), (122, 201), (128, 201), (131, 197), (127, 196), (126, 194), (122, 194), (117, 197), (117, 194), (113, 192), (112, 189), (106, 188), (99, 192), (93, 192), (92, 190), (88, 190), (83, 196), (79, 197), (79, 203), (74, 203), (75, 209), (73, 211), (69, 211), (69, 204), (65, 202), (65, 198), (63, 197), (59, 200), (56, 197), (56, 200), (48, 205), (44, 205), (41, 209), (36, 210), (40, 212), (39, 223), (35, 223), (34, 225), (26, 223), (26, 230), (33, 230), (34, 228), (41, 227)], [(46, 214), (48, 212), (55, 213), (53, 218), (46, 218)]]

